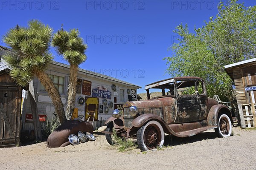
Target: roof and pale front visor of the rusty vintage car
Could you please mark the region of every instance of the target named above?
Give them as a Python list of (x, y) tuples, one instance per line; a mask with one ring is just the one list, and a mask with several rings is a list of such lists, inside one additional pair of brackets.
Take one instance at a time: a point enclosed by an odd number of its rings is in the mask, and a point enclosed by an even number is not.
[(160, 85), (165, 85), (165, 84), (169, 84), (171, 82), (175, 82), (177, 80), (202, 80), (204, 81), (202, 78), (200, 77), (174, 77), (174, 78), (169, 78), (169, 79), (164, 79), (164, 80), (160, 80), (160, 81), (157, 81), (157, 82), (153, 82), (151, 84), (148, 84), (145, 86), (145, 89), (149, 89), (149, 88), (154, 88), (154, 87), (157, 87), (157, 86), (160, 86)]

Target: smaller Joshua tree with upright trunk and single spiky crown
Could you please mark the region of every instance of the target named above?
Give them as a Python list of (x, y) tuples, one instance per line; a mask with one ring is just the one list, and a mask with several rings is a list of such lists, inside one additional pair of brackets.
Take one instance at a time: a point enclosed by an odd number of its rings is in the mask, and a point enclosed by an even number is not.
[(87, 45), (84, 44), (83, 39), (79, 37), (78, 29), (71, 29), (70, 32), (64, 31), (61, 25), (61, 30), (53, 35), (52, 46), (56, 48), (58, 54), (63, 55), (70, 63), (70, 78), (68, 85), (68, 99), (67, 99), (67, 119), (71, 118), (74, 110), (76, 99), (76, 83), (79, 64), (84, 62), (87, 57), (84, 52)]

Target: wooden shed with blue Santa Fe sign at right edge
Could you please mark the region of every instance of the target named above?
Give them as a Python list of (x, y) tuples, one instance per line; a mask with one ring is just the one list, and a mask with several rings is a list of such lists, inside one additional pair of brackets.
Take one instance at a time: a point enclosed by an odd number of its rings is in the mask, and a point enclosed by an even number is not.
[(225, 65), (225, 71), (235, 82), (241, 127), (256, 127), (256, 58)]

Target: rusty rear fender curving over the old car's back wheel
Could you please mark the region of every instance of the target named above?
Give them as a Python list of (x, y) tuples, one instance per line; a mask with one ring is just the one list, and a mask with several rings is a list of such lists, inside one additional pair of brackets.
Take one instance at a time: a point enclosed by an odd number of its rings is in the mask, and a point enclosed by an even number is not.
[(214, 105), (210, 109), (207, 117), (208, 126), (218, 126), (218, 115), (220, 113), (225, 113), (230, 118), (231, 123), (233, 122), (232, 115), (227, 106), (224, 105)]

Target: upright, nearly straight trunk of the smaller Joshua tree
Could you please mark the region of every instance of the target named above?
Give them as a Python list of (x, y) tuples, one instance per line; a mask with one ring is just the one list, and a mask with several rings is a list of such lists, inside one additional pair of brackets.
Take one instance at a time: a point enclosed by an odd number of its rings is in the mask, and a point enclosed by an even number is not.
[(78, 65), (70, 65), (70, 78), (68, 85), (68, 97), (67, 97), (67, 110), (66, 117), (70, 120), (72, 113), (74, 111), (75, 101), (76, 101), (76, 83), (77, 83)]

